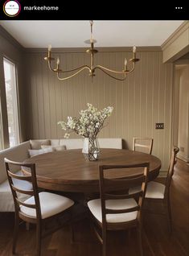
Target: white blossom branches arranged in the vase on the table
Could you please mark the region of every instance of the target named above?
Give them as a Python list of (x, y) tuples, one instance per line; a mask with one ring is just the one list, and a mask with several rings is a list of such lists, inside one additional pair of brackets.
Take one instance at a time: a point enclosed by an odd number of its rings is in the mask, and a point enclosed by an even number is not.
[(69, 138), (72, 131), (84, 138), (96, 138), (104, 125), (105, 119), (113, 112), (112, 106), (101, 110), (97, 110), (97, 108), (90, 103), (88, 103), (87, 106), (88, 109), (80, 110), (79, 118), (68, 117), (68, 122), (58, 122), (58, 125), (60, 125), (63, 130), (67, 131), (64, 134), (64, 138)]

